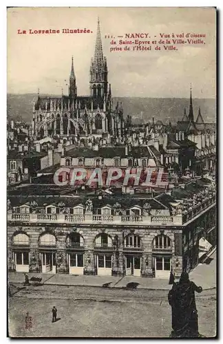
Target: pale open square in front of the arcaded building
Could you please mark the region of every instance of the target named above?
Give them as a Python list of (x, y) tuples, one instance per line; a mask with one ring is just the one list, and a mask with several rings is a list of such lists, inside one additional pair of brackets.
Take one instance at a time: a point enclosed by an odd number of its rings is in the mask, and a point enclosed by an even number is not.
[[(34, 337), (168, 337), (171, 307), (167, 294), (167, 290), (77, 286), (30, 286), (19, 292), (12, 288), (9, 333)], [(215, 290), (197, 294), (196, 302), (200, 334), (215, 336)], [(56, 323), (52, 323), (54, 305), (58, 310)], [(25, 329), (27, 312), (32, 316), (30, 330)]]

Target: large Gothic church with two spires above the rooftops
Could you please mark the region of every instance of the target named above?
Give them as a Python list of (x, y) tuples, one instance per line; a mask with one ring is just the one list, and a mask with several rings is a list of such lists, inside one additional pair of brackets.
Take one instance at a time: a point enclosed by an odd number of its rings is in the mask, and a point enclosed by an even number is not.
[(74, 59), (70, 72), (68, 96), (41, 96), (33, 104), (32, 137), (60, 138), (110, 137), (123, 138), (124, 118), (122, 105), (113, 107), (111, 84), (108, 83), (107, 59), (103, 55), (100, 22), (96, 34), (94, 57), (89, 69), (89, 95), (78, 96)]

